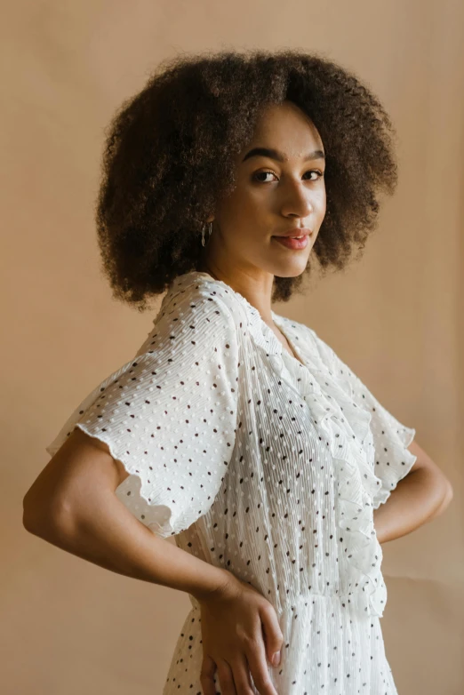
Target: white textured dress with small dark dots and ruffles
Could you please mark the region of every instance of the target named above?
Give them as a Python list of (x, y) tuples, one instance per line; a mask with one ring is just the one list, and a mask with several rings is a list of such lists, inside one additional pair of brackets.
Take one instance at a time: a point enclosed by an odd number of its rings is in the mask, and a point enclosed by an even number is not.
[[(299, 359), (228, 284), (177, 277), (137, 355), (46, 451), (75, 427), (108, 443), (130, 474), (116, 496), (141, 523), (260, 590), (284, 635), (268, 666), (279, 695), (394, 695), (373, 510), (411, 470), (415, 430), (313, 329), (272, 316)], [(164, 695), (202, 692), (189, 598)]]

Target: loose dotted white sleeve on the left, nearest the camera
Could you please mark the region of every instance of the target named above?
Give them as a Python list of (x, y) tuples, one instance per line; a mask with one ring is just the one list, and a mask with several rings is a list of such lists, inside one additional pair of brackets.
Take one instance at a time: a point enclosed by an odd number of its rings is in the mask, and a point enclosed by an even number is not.
[(130, 474), (116, 496), (162, 537), (205, 515), (236, 433), (236, 324), (201, 287), (172, 292), (140, 351), (84, 398), (46, 447), (75, 427), (108, 444)]

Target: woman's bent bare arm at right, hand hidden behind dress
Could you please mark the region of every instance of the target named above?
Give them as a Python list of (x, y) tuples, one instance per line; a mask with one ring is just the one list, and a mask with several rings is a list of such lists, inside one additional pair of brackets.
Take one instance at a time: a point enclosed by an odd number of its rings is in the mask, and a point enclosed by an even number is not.
[(408, 446), (417, 459), (384, 504), (374, 509), (380, 543), (411, 533), (442, 514), (452, 500), (452, 484), (415, 441)]

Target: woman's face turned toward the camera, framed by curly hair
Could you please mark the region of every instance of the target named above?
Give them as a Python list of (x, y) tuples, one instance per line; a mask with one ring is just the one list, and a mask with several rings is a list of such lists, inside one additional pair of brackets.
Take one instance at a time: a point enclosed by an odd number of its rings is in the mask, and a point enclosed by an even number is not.
[[(235, 165), (236, 188), (220, 201), (212, 236), (205, 234), (206, 265), (267, 287), (275, 275), (299, 276), (325, 214), (324, 147), (315, 125), (291, 101), (271, 106)], [(295, 236), (311, 230), (305, 248), (276, 241), (290, 228)]]

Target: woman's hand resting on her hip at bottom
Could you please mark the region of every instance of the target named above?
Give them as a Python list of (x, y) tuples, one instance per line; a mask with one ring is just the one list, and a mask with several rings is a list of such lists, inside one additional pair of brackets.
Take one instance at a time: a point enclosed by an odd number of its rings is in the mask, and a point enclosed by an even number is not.
[[(203, 640), (200, 675), (204, 695), (216, 695), (218, 669), (223, 695), (277, 695), (266, 657), (280, 652), (284, 636), (276, 611), (260, 592), (233, 574), (212, 594), (199, 600)], [(279, 654), (280, 657), (280, 654)]]

